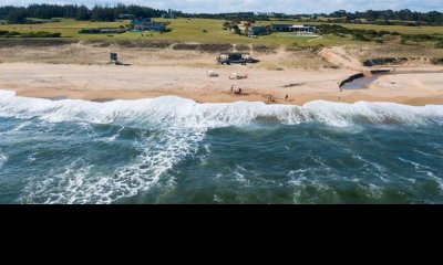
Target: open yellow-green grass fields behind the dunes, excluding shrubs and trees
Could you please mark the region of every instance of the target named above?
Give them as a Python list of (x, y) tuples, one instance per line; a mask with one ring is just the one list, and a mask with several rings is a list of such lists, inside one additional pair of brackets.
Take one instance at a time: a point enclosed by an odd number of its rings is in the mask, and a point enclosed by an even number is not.
[[(165, 21), (157, 19), (157, 21)], [(175, 19), (171, 20), (172, 32), (126, 32), (123, 34), (79, 34), (79, 30), (89, 28), (119, 28), (130, 21), (120, 22), (90, 22), (75, 20), (61, 20), (43, 24), (0, 24), (0, 30), (17, 31), (21, 33), (47, 31), (60, 32), (63, 38), (74, 40), (166, 40), (174, 42), (198, 42), (198, 43), (235, 43), (235, 44), (259, 44), (259, 45), (342, 45), (358, 43), (351, 36), (340, 38), (337, 35), (323, 35), (322, 38), (296, 36), (290, 33), (274, 33), (258, 39), (236, 35), (223, 30), (223, 20), (208, 19)], [(300, 23), (297, 21), (262, 21), (259, 24), (270, 23)], [(320, 24), (321, 22), (310, 23)], [(401, 26), (401, 25), (373, 25), (373, 24), (341, 24), (349, 29), (365, 29), (375, 31), (396, 31), (402, 34), (442, 34), (443, 26)], [(205, 32), (204, 32), (205, 30)]]

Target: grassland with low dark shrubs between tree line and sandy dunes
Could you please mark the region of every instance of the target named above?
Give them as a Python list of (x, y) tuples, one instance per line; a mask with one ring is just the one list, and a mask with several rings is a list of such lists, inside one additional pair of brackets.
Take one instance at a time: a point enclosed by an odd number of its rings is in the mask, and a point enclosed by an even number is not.
[[(30, 19), (28, 19), (30, 20)], [(404, 26), (404, 25), (356, 25), (356, 24), (329, 24), (316, 22), (322, 36), (297, 36), (290, 32), (272, 33), (257, 39), (236, 34), (226, 29), (228, 21), (218, 19), (156, 19), (159, 22), (169, 22), (171, 32), (137, 33), (132, 31), (121, 32), (130, 24), (128, 20), (114, 22), (78, 21), (74, 19), (47, 20), (33, 24), (0, 24), (3, 33), (0, 38), (20, 36), (25, 38), (31, 32), (60, 33), (61, 38), (74, 40), (137, 40), (137, 41), (168, 41), (176, 43), (230, 43), (240, 45), (266, 45), (266, 46), (321, 46), (321, 45), (347, 45), (360, 42), (387, 43), (395, 42), (409, 45), (430, 45), (439, 47), (443, 36), (443, 26)], [(282, 21), (257, 21), (257, 24), (281, 23)], [(285, 21), (284, 23), (297, 23), (297, 21)], [(104, 33), (82, 34), (82, 30), (106, 29)], [(112, 31), (115, 32), (112, 33)], [(110, 33), (111, 32), (111, 33)], [(20, 34), (18, 34), (20, 33)], [(30, 38), (34, 35), (29, 35)], [(41, 35), (48, 38), (50, 34)], [(56, 36), (56, 35), (54, 35)]]

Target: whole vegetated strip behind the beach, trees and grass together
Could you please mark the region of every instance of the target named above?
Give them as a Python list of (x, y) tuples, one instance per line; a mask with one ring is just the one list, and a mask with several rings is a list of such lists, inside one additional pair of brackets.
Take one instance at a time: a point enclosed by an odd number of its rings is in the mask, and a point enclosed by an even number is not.
[[(163, 18), (161, 18), (163, 17)], [(131, 18), (155, 18), (167, 23), (166, 32), (134, 32)], [(278, 13), (186, 14), (174, 10), (123, 6), (31, 4), (0, 7), (0, 39), (65, 39), (120, 43), (158, 43), (174, 50), (215, 51), (236, 45), (241, 51), (269, 53), (279, 46), (298, 47), (362, 44), (443, 47), (443, 19), (440, 12), (367, 11), (330, 14), (285, 15)], [(319, 35), (300, 36), (274, 32), (248, 38), (253, 25), (306, 24)], [(441, 25), (440, 25), (441, 24)], [(133, 44), (131, 44), (133, 45)], [(143, 44), (144, 45), (144, 44)], [(151, 45), (151, 44), (146, 44)]]

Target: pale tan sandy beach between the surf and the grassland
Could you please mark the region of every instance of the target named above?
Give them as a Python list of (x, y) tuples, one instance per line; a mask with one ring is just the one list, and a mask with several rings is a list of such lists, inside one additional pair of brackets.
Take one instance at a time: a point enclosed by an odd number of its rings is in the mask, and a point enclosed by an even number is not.
[[(20, 96), (109, 100), (137, 99), (174, 95), (198, 103), (238, 100), (303, 105), (323, 99), (354, 103), (392, 102), (408, 105), (443, 104), (443, 67), (432, 65), (398, 66), (395, 74), (384, 75), (362, 89), (340, 91), (339, 84), (364, 71), (356, 60), (312, 57), (303, 52), (279, 51), (255, 54), (255, 65), (218, 65), (215, 54), (195, 51), (117, 50), (130, 66), (106, 65), (106, 49), (70, 45), (40, 53), (25, 49), (1, 49), (0, 89), (16, 91)], [(90, 53), (90, 55), (86, 53)], [(35, 54), (40, 54), (37, 56)], [(94, 54), (94, 55), (91, 55)], [(140, 56), (136, 56), (138, 54)], [(69, 63), (69, 56), (75, 57)], [(61, 62), (53, 62), (53, 60)], [(83, 60), (83, 61), (82, 61)], [(316, 62), (309, 67), (289, 62)], [(289, 65), (289, 66), (288, 66)], [(334, 67), (331, 67), (334, 65)], [(209, 77), (208, 71), (217, 73)], [(234, 73), (247, 75), (231, 80)], [(241, 95), (230, 88), (241, 88)], [(286, 100), (288, 95), (288, 100)], [(274, 100), (270, 100), (272, 99)]]

